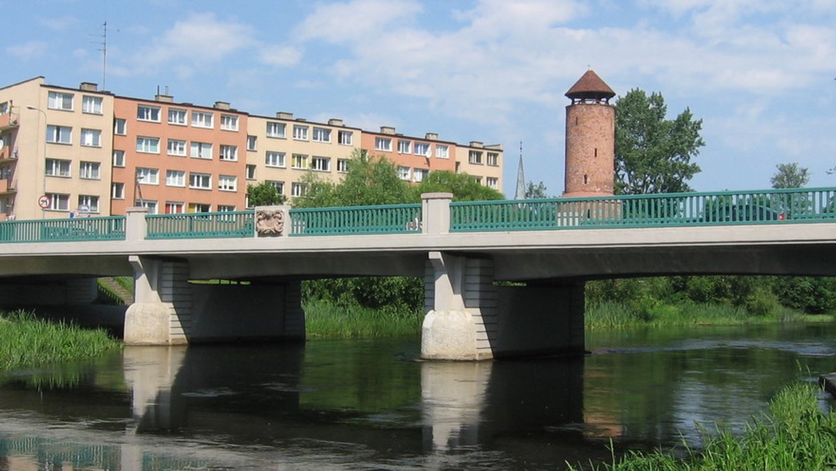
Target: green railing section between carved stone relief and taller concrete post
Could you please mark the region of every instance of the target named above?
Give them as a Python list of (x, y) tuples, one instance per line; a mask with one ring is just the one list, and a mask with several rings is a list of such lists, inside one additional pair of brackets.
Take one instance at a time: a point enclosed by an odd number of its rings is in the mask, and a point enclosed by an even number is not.
[(292, 236), (420, 233), (421, 204), (290, 210)]

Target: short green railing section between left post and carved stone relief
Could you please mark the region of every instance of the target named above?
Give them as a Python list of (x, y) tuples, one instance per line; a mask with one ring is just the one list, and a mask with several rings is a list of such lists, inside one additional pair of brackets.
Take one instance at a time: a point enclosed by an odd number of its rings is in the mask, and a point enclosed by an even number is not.
[(241, 238), (253, 237), (252, 211), (148, 214), (145, 238)]

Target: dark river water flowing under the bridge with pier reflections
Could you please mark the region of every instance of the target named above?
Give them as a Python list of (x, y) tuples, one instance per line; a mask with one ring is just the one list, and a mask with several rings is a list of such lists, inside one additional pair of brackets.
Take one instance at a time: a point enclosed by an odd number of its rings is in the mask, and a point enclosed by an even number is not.
[[(742, 430), (836, 371), (836, 326), (588, 333), (584, 358), (417, 361), (420, 342), (126, 347), (0, 377), (0, 469), (561, 469)], [(828, 397), (822, 395), (822, 401)]]

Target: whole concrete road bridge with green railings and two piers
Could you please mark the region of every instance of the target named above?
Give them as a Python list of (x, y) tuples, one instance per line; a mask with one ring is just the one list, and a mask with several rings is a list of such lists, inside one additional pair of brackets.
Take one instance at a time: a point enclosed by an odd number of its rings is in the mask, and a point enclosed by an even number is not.
[[(836, 275), (836, 188), (421, 203), (0, 223), (0, 299), (84, 305), (130, 275), (125, 343), (303, 339), (303, 279), (425, 279), (421, 355), (584, 349), (584, 281)], [(230, 279), (246, 284), (206, 284)], [(499, 281), (519, 282), (497, 284)], [(45, 290), (46, 289), (46, 290)]]

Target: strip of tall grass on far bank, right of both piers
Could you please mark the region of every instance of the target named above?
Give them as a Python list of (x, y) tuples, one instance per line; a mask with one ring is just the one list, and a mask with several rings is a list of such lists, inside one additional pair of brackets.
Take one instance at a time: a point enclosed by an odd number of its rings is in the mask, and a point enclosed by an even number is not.
[[(589, 330), (624, 327), (665, 327), (687, 325), (753, 325), (808, 321), (809, 316), (791, 310), (775, 310), (768, 315), (752, 315), (742, 307), (731, 305), (650, 305), (637, 309), (624, 303), (602, 302), (586, 306), (584, 320)], [(833, 320), (831, 316), (815, 316), (818, 322)]]

